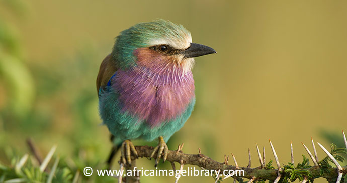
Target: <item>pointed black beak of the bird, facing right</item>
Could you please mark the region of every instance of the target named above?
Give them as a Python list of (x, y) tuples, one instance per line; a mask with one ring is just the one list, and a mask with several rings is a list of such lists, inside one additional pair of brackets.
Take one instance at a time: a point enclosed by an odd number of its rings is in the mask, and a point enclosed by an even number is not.
[(203, 56), (203, 55), (207, 55), (211, 53), (217, 53), (217, 52), (211, 47), (200, 45), (197, 43), (191, 43), (189, 48), (181, 52), (184, 58), (199, 57), (199, 56)]

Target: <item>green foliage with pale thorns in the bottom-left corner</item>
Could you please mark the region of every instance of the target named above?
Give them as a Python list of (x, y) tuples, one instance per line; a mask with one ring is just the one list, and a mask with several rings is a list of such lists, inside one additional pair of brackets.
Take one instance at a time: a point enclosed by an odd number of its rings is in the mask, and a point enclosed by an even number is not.
[[(11, 154), (14, 155), (14, 154)], [(97, 176), (96, 172), (92, 176), (82, 176), (79, 172), (84, 167), (88, 166), (88, 162), (79, 159), (79, 165), (67, 165), (66, 159), (59, 161), (59, 157), (55, 159), (54, 164), (50, 162), (47, 167), (44, 167), (44, 171), (41, 169), (36, 160), (32, 160), (33, 157), (24, 155), (22, 158), (13, 156), (10, 159), (11, 165), (3, 165), (0, 162), (0, 182), (47, 182), (47, 183), (65, 183), (65, 182), (114, 182), (115, 178), (109, 176)], [(47, 155), (46, 159), (52, 161)], [(76, 158), (77, 159), (77, 158)], [(75, 160), (73, 162), (76, 162)], [(70, 162), (74, 164), (73, 162)], [(53, 164), (53, 165), (52, 165)], [(77, 168), (76, 168), (77, 166)], [(89, 165), (98, 169), (106, 168), (104, 163)]]

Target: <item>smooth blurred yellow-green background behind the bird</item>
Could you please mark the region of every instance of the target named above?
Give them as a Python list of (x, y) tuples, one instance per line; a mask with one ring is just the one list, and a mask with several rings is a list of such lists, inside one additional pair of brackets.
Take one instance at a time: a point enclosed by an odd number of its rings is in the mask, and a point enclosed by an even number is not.
[[(169, 149), (184, 142), (185, 153), (201, 148), (217, 161), (233, 153), (246, 166), (250, 148), (252, 167), (257, 167), (255, 143), (266, 147), (267, 161), (273, 159), (268, 138), (283, 164), (290, 162), (290, 141), (295, 163), (302, 161), (301, 154), (308, 156), (300, 142), (312, 149), (311, 137), (326, 148), (332, 142), (342, 147), (345, 1), (1, 0), (0, 162), (11, 164), (9, 157), (30, 153), (26, 139), (32, 138), (43, 156), (57, 144), (61, 163), (72, 174), (85, 166), (103, 167), (111, 144), (98, 115), (100, 63), (120, 31), (156, 18), (184, 25), (194, 42), (217, 51), (196, 58), (195, 110), (169, 140)], [(115, 169), (118, 159), (119, 153)], [(154, 168), (153, 160), (137, 164)], [(83, 177), (83, 182), (98, 178)], [(180, 179), (192, 181), (213, 178)]]

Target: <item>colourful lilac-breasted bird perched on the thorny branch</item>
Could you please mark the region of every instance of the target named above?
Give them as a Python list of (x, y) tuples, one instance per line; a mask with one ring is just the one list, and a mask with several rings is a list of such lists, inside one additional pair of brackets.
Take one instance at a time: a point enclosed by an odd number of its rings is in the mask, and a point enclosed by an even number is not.
[(208, 46), (192, 43), (182, 25), (163, 19), (138, 23), (122, 31), (97, 76), (99, 114), (113, 135), (121, 161), (138, 157), (131, 140), (159, 143), (155, 166), (167, 159), (166, 142), (180, 130), (195, 105), (194, 57), (213, 54)]

